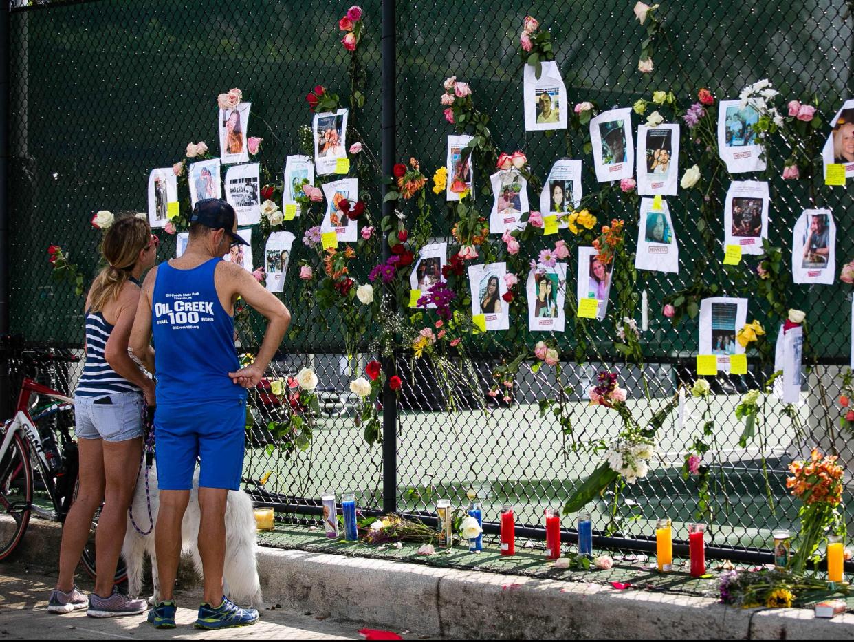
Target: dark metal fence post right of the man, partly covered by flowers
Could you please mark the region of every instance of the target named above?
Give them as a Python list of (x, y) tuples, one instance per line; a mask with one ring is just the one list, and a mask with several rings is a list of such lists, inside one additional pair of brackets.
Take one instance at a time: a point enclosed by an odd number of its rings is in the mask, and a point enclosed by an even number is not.
[[(383, 56), (382, 156), (383, 174), (390, 176), (395, 166), (395, 0), (383, 0), (383, 37), (380, 41)], [(383, 186), (383, 198), (389, 186)], [(383, 202), (383, 217), (395, 214), (394, 201)], [(389, 257), (389, 239), (383, 233), (383, 260)], [(381, 357), (383, 358), (383, 357)], [(383, 371), (389, 377), (391, 363), (383, 358)], [(386, 382), (383, 389), (383, 512), (397, 510), (397, 395)]]

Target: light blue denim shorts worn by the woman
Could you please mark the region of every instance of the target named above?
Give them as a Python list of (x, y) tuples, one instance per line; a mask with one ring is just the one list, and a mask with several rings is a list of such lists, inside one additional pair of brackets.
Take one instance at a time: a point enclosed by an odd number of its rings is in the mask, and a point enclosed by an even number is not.
[(136, 439), (143, 436), (143, 396), (138, 392), (102, 397), (75, 395), (74, 419), (74, 433), (79, 439)]

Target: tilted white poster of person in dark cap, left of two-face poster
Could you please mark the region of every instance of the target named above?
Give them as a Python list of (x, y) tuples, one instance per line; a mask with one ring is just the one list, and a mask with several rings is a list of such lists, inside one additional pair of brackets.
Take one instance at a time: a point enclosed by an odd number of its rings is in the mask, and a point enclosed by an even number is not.
[(604, 111), (590, 120), (590, 142), (596, 180), (630, 179), (634, 174), (635, 141), (630, 108)]

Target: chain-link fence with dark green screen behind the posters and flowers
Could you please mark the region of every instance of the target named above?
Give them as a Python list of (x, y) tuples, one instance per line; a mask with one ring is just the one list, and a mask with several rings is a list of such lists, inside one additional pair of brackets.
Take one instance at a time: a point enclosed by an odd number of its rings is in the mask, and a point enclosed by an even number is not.
[[(355, 60), (364, 68), (361, 91), (366, 102), (351, 118), (365, 151), (354, 157), (354, 172), (368, 203), (369, 218), (363, 224), (379, 227), (381, 183), (371, 159), (381, 156), (381, 4), (371, 0), (362, 8), (366, 32)], [(311, 116), (307, 91), (325, 85), (340, 93), (345, 105), (352, 93), (354, 59), (342, 48), (337, 26), (346, 9), (319, 2), (94, 0), (13, 11), (12, 335), (27, 345), (61, 346), (79, 353), (83, 300), (73, 285), (51, 280), (46, 248), (61, 245), (88, 282), (100, 239), (89, 225), (91, 215), (99, 209), (144, 209), (149, 171), (181, 160), (188, 142), (210, 143), (216, 137), (214, 103), (220, 91), (237, 86), (244, 100), (251, 101), (249, 133), (264, 138), (260, 161), (274, 174), (284, 168), (285, 156), (302, 153), (300, 128)], [(738, 97), (745, 85), (768, 78), (785, 98), (780, 104), (784, 111), (789, 99), (817, 99), (823, 141), (828, 122), (851, 91), (854, 18), (849, 3), (736, 6), (704, 0), (667, 3), (660, 12), (664, 30), (655, 42), (655, 68), (640, 74), (637, 59), (646, 30), (628, 2), (396, 3), (399, 162), (415, 157), (427, 176), (445, 164), (447, 135), (454, 131), (442, 116), (439, 98), (445, 78), (456, 75), (471, 85), (477, 109), (489, 115), (497, 149), (524, 150), (540, 184), (559, 158), (582, 159), (585, 203), (597, 216), (597, 229), (611, 218), (623, 219), (627, 250), (635, 250), (638, 203), (596, 182), (592, 156), (584, 145), (586, 127), (570, 127), (553, 136), (525, 131), (518, 32), (526, 14), (535, 15), (552, 33), (570, 103), (564, 108), (582, 101), (592, 101), (600, 110), (629, 107), (639, 98), (649, 100), (652, 91), (673, 91), (686, 108), (696, 102), (702, 87), (717, 99), (729, 99)], [(646, 115), (633, 115), (633, 132)], [(681, 176), (705, 153), (706, 143), (693, 139), (681, 118), (679, 122)], [(804, 209), (832, 211), (837, 263), (850, 256), (849, 192), (824, 185), (819, 152), (809, 148), (808, 141), (795, 143), (806, 145), (802, 151), (810, 156), (800, 179), (782, 180), (783, 162), (793, 155), (791, 144), (781, 136), (768, 138), (767, 173), (730, 175), (723, 168), (705, 177), (702, 191), (681, 189), (670, 197), (680, 250), (678, 274), (632, 272), (629, 289), (611, 292), (604, 321), (574, 320), (571, 293), (579, 240), (568, 231), (536, 236), (522, 243), (517, 256), (501, 258), (521, 281), (511, 304), (510, 331), (488, 333), (486, 339), (466, 337), (465, 354), (471, 358), (445, 358), (441, 367), (438, 359), (398, 354), (396, 367), (404, 383), (395, 408), (397, 448), (395, 461), (385, 462), (387, 469), (396, 469), (397, 509), (427, 514), (436, 498), (451, 498), (459, 506), (477, 496), (486, 521), (497, 521), (501, 504), (515, 504), (520, 523), (539, 526), (543, 509), (563, 504), (599, 465), (602, 453), (595, 446), (615, 439), (623, 426), (616, 412), (588, 404), (587, 391), (597, 374), (617, 372), (620, 385), (629, 391), (635, 419), (650, 421), (679, 386), (696, 380), (698, 320), (686, 317), (675, 325), (662, 315), (663, 304), (673, 303), (676, 292), (694, 287), (694, 293), (708, 293), (717, 285), (718, 295), (749, 298), (748, 321), (762, 322), (768, 349), (748, 350), (748, 374), (711, 380), (708, 401), (689, 395), (684, 427), (677, 427), (673, 413), (658, 431), (658, 451), (646, 479), (617, 497), (608, 492), (590, 504), (594, 528), (617, 537), (643, 537), (652, 532), (657, 518), (670, 516), (683, 535), (684, 522), (702, 519), (710, 522), (712, 545), (741, 548), (762, 547), (776, 527), (797, 529), (798, 505), (784, 485), (787, 463), (813, 445), (838, 451), (845, 462), (852, 458), (849, 433), (839, 428), (835, 405), (841, 370), (848, 363), (850, 291), (838, 279), (834, 286), (794, 286), (785, 277), (779, 287), (768, 290), (757, 275), (757, 257), (748, 256), (735, 268), (721, 261), (724, 196), (731, 180), (748, 179), (769, 180), (768, 236), (781, 248), (783, 273), (791, 271), (793, 226)], [(477, 165), (474, 180), (475, 203), (488, 218), (492, 196), (483, 190), (486, 177), (478, 174)], [(539, 192), (533, 186), (534, 181), (529, 197), (537, 203)], [(594, 197), (598, 194), (602, 197)], [(445, 240), (449, 251), (456, 252), (453, 208), (429, 186), (427, 199), (432, 208), (429, 239)], [(412, 203), (401, 204), (400, 210), (407, 227), (416, 225), (418, 212)], [(245, 466), (254, 497), (295, 519), (316, 515), (319, 495), (327, 489), (357, 492), (366, 510), (389, 506), (389, 498), (383, 498), (382, 447), (366, 443), (357, 418), (358, 400), (348, 386), (366, 362), (377, 357), (371, 349), (383, 319), (366, 323), (358, 341), (348, 344), (340, 308), (321, 309), (312, 297), (303, 296), (294, 266), (316, 261), (314, 250), (301, 239), (318, 222), (302, 216), (284, 224), (296, 241), (281, 296), (290, 306), (296, 331), (284, 342), (269, 375), (276, 379), (313, 366), (320, 380), (321, 415), (307, 443), (276, 444), (266, 426), (286, 421), (291, 412), (287, 396), (255, 392)], [(571, 250), (566, 330), (529, 333), (524, 296), (528, 262), (558, 238)], [(174, 256), (174, 237), (161, 234), (161, 239), (161, 257)], [(253, 244), (254, 256), (262, 256), (257, 232)], [(371, 268), (382, 262), (380, 250), (374, 250), (350, 263), (357, 281), (365, 282)], [(494, 236), (481, 251), (483, 257), (504, 256), (504, 244)], [(623, 268), (631, 271), (631, 265)], [(640, 334), (642, 358), (629, 359), (614, 342), (623, 315), (640, 323), (642, 291), (649, 300), (649, 327)], [(630, 296), (633, 293), (637, 296)], [(406, 302), (397, 303), (406, 309)], [(774, 372), (773, 345), (783, 321), (780, 306), (807, 312), (804, 365), (809, 375), (802, 403), (786, 404), (768, 395), (756, 435), (740, 443), (744, 427), (734, 415), (735, 407), (743, 393), (763, 388)], [(406, 311), (403, 318), (411, 313)], [(422, 315), (409, 322), (424, 326), (427, 318), (435, 320)], [(241, 331), (241, 343), (249, 352), (260, 340), (256, 321)], [(536, 368), (535, 358), (525, 359), (518, 372), (499, 377), (500, 395), (490, 396), (496, 368), (531, 350), (540, 339), (559, 348), (562, 368)], [(69, 371), (68, 388), (76, 374)], [(503, 384), (508, 378), (512, 388)], [(543, 401), (555, 403), (547, 404), (543, 413)], [(700, 471), (683, 473), (692, 453), (701, 457)]]

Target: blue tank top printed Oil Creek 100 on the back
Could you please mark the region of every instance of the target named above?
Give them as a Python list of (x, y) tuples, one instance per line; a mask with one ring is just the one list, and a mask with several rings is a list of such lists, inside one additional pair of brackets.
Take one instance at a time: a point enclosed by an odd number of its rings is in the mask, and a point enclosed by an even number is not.
[(219, 303), (213, 274), (221, 258), (192, 269), (157, 268), (151, 297), (157, 404), (244, 401), (228, 374), (240, 368), (234, 319)]

